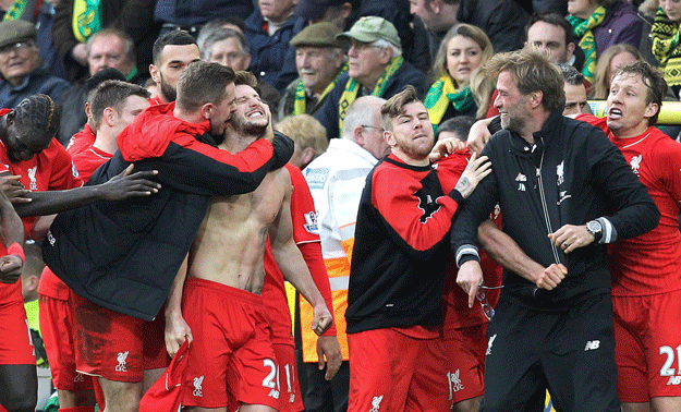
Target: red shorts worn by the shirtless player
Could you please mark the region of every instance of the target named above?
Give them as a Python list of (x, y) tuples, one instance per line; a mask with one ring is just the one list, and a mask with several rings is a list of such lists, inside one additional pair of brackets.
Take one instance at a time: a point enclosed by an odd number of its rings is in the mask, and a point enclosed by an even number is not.
[(190, 278), (184, 284), (182, 308), (194, 336), (182, 404), (230, 404), (230, 410), (234, 410), (234, 399), (242, 404), (278, 409), (277, 363), (263, 298)]

